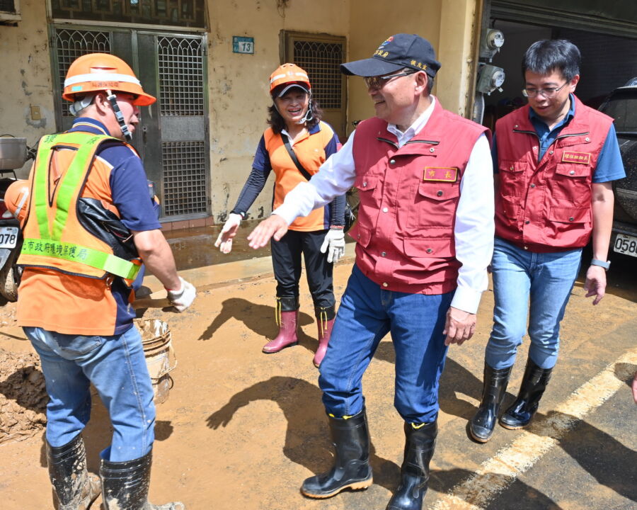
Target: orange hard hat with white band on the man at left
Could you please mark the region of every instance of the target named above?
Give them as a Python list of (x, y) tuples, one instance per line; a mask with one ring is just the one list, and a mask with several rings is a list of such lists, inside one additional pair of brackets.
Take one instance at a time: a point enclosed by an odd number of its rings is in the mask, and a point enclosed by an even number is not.
[(62, 97), (75, 101), (75, 95), (91, 94), (98, 91), (127, 92), (135, 94), (136, 106), (148, 106), (156, 101), (146, 94), (142, 84), (130, 66), (119, 57), (109, 53), (89, 53), (74, 60), (64, 79)]

